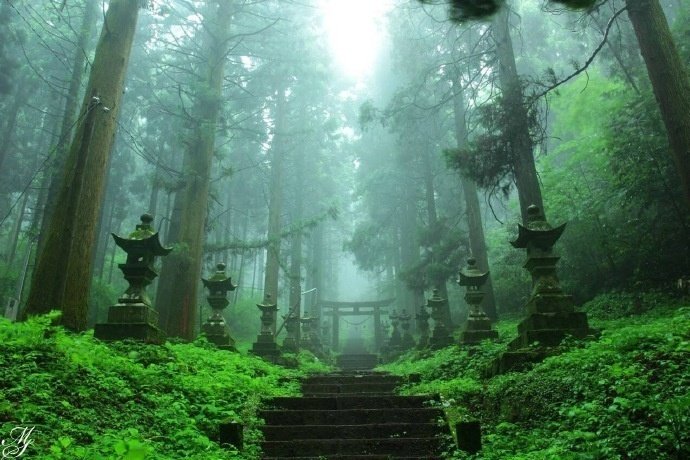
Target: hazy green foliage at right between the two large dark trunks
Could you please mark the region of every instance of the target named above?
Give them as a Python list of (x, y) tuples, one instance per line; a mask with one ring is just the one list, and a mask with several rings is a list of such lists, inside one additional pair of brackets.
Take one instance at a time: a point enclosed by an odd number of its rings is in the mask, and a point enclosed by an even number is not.
[[(541, 162), (566, 291), (668, 287), (688, 270), (687, 215), (654, 98), (593, 71), (552, 104), (559, 143)], [(592, 110), (597, 107), (597, 110)]]

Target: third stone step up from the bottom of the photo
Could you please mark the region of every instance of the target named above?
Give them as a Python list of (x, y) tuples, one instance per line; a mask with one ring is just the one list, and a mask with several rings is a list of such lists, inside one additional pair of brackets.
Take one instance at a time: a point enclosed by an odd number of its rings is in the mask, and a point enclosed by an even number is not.
[(266, 425), (356, 425), (377, 423), (436, 423), (443, 419), (437, 408), (347, 409), (347, 410), (264, 410)]

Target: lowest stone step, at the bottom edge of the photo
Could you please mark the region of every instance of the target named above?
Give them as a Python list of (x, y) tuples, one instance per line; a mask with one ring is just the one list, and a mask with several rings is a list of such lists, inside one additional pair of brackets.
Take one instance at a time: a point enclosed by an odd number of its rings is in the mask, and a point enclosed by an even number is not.
[(441, 453), (436, 438), (387, 439), (301, 439), (292, 441), (264, 441), (265, 456), (297, 457), (327, 455), (428, 456)]

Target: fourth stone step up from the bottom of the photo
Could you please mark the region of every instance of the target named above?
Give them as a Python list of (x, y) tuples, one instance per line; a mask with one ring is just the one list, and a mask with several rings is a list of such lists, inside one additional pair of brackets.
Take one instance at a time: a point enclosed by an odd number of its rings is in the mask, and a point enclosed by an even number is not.
[(343, 409), (394, 409), (419, 408), (433, 405), (438, 398), (433, 395), (421, 396), (335, 396), (309, 398), (281, 397), (268, 401), (268, 407), (285, 410), (343, 410)]

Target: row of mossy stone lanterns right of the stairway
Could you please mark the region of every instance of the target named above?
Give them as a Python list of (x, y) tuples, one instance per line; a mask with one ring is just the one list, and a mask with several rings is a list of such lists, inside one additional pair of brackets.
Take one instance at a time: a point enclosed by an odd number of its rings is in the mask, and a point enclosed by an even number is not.
[[(563, 292), (556, 275), (556, 263), (560, 258), (553, 253), (553, 246), (564, 230), (565, 224), (551, 226), (542, 210), (534, 205), (527, 209), (524, 225), (518, 225), (518, 237), (511, 241), (511, 245), (526, 250), (527, 261), (524, 267), (532, 277), (532, 292), (526, 305), (527, 317), (518, 324), (518, 336), (509, 343), (508, 351), (494, 364), (495, 373), (543, 358), (549, 353), (550, 347), (555, 347), (568, 335), (584, 338), (595, 332), (589, 328), (587, 315), (575, 311), (572, 296)], [(481, 307), (484, 299), (482, 287), (488, 277), (489, 273), (480, 271), (472, 257), (458, 275), (458, 284), (467, 289), (465, 301), (469, 305), (465, 329), (460, 336), (460, 343), (463, 345), (498, 338), (498, 332), (491, 328), (491, 320)], [(435, 289), (427, 300), (427, 305), (422, 306), (416, 315), (420, 335), (418, 347), (442, 348), (453, 342), (451, 326), (444, 317), (446, 302), (447, 299), (440, 297)], [(431, 310), (431, 315), (427, 313), (426, 307)], [(431, 333), (429, 318), (434, 320)], [(400, 350), (405, 348), (402, 346), (400, 332), (396, 331), (397, 319), (391, 317), (393, 333), (389, 343)], [(538, 350), (535, 345), (538, 345)], [(539, 356), (535, 357), (535, 353)]]

